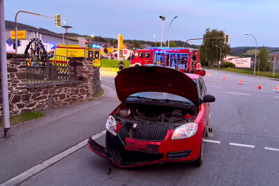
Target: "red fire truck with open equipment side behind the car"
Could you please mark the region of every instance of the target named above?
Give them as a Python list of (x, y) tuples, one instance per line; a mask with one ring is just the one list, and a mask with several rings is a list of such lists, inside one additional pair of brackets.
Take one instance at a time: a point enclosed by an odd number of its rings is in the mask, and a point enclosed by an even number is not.
[(147, 47), (137, 49), (130, 59), (130, 66), (162, 65), (181, 72), (205, 75), (199, 62), (199, 50), (183, 47)]

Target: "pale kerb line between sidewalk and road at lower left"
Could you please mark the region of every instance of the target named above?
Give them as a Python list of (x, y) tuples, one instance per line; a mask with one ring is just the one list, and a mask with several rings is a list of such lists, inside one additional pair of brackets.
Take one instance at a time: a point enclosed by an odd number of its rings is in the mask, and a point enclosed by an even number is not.
[[(105, 134), (106, 130), (103, 130), (102, 132), (99, 132), (98, 134), (93, 135), (92, 139), (96, 140), (99, 137), (102, 137), (103, 134)], [(80, 142), (79, 144), (72, 146), (68, 148), (67, 150), (63, 151), (62, 153), (59, 153), (58, 155), (54, 155), (54, 157), (50, 157), (50, 159), (45, 160), (44, 162), (37, 164), (36, 166), (33, 166), (31, 169), (28, 169), (27, 171), (24, 171), (23, 173), (20, 173), (19, 175), (15, 176), (14, 178), (11, 178), (10, 180), (6, 181), (5, 183), (2, 183), (0, 186), (3, 185), (18, 185), (25, 180), (31, 178), (32, 176), (35, 176), (37, 173), (40, 173), (40, 171), (43, 171), (44, 169), (47, 169), (47, 167), (52, 166), (52, 164), (55, 164), (56, 162), (59, 162), (63, 158), (67, 157), (68, 155), (75, 153), (75, 151), (80, 150), (80, 148), (83, 148), (86, 146), (88, 139), (85, 139), (84, 141)]]

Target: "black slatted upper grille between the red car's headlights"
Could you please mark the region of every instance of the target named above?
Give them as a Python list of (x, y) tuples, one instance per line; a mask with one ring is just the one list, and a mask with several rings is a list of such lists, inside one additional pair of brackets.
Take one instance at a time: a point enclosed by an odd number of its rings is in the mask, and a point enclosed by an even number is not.
[(141, 132), (136, 130), (133, 132), (133, 138), (146, 141), (163, 141), (167, 135), (167, 130), (148, 130)]

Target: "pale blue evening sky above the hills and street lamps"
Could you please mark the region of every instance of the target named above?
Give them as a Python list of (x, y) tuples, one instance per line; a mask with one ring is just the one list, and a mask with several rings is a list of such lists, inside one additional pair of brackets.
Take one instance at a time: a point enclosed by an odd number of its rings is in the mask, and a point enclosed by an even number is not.
[[(250, 33), (257, 38), (257, 46), (279, 47), (279, 22), (277, 0), (4, 0), (5, 19), (15, 21), (15, 14), (25, 10), (55, 17), (61, 15), (66, 25), (73, 26), (70, 32), (82, 35), (124, 39), (151, 40), (162, 36), (162, 20), (166, 17), (163, 40), (202, 38), (205, 30), (218, 29), (229, 34), (231, 47), (255, 46), (255, 39), (245, 36)], [(55, 21), (36, 15), (20, 13), (17, 22), (37, 28), (62, 33)], [(202, 40), (190, 42), (201, 45)]]

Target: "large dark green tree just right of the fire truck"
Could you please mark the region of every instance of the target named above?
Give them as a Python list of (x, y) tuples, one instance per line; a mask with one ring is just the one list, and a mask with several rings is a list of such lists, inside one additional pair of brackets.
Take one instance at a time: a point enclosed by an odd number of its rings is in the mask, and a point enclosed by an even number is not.
[[(230, 53), (231, 47), (224, 44), (224, 31), (218, 31), (217, 29), (206, 29), (204, 38), (220, 38), (220, 39), (205, 39), (200, 47), (200, 61), (202, 65), (213, 65), (218, 63), (220, 59), (220, 47), (222, 49), (222, 56), (227, 56)], [(218, 45), (216, 47), (215, 45)]]

